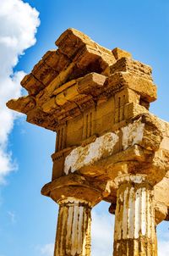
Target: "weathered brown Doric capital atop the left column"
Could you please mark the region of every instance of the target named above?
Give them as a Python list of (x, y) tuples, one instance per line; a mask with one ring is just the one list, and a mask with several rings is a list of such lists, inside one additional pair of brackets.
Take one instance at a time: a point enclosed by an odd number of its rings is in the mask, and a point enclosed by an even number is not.
[(41, 193), (57, 203), (68, 198), (76, 198), (80, 202), (90, 203), (93, 207), (111, 192), (110, 188), (110, 181), (103, 181), (101, 186), (95, 186), (82, 175), (69, 174), (47, 183), (42, 187)]

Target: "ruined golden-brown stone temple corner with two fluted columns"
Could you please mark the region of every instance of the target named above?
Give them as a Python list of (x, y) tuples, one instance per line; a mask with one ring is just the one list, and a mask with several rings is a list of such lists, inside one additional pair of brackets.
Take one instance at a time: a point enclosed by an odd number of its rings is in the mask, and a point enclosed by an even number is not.
[[(54, 256), (90, 255), (90, 212), (115, 214), (114, 256), (157, 255), (155, 226), (169, 220), (169, 123), (150, 114), (151, 68), (68, 29), (8, 108), (57, 133), (52, 181), (59, 204)], [(106, 255), (105, 255), (106, 256)]]

